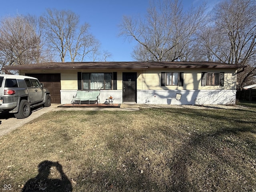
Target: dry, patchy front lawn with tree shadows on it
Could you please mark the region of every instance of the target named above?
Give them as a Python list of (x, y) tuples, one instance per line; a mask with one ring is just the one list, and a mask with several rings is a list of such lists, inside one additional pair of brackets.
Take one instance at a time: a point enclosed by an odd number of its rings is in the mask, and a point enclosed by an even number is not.
[(0, 187), (10, 184), (12, 191), (21, 191), (30, 183), (44, 191), (70, 186), (73, 192), (254, 191), (255, 112), (52, 111), (2, 136)]

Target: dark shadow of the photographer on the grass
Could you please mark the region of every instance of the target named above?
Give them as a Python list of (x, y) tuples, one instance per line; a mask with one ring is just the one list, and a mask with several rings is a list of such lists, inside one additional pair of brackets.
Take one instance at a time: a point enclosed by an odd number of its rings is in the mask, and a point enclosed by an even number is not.
[[(56, 167), (61, 179), (49, 178), (51, 170)], [(22, 192), (72, 192), (72, 184), (58, 162), (43, 161), (38, 165), (38, 175), (26, 182)]]

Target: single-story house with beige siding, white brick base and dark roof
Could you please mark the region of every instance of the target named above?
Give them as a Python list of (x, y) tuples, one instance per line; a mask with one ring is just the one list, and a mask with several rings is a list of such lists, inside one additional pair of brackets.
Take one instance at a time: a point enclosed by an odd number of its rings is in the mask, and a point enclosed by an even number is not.
[(244, 66), (216, 62), (47, 62), (4, 66), (44, 83), (52, 103), (69, 104), (77, 90), (100, 90), (100, 103), (231, 104)]

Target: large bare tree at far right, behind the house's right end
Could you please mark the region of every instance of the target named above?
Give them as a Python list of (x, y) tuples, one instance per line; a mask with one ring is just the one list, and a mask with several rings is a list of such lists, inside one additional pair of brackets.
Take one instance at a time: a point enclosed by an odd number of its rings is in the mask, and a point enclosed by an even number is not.
[(238, 76), (240, 89), (256, 74), (256, 1), (224, 0), (200, 33), (201, 50), (209, 60), (247, 65)]

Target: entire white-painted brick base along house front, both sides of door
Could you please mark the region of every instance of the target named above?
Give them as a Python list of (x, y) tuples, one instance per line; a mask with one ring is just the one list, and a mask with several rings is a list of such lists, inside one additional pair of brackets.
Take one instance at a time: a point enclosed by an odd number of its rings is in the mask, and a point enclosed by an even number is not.
[[(77, 90), (60, 90), (61, 104), (70, 104)], [(176, 94), (181, 94), (180, 100)], [(100, 103), (112, 96), (123, 103), (122, 90), (100, 90)], [(235, 104), (236, 90), (137, 90), (138, 104), (205, 105)]]

